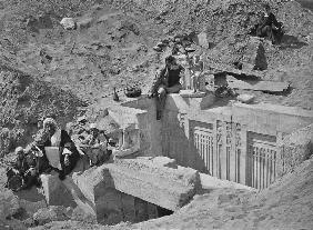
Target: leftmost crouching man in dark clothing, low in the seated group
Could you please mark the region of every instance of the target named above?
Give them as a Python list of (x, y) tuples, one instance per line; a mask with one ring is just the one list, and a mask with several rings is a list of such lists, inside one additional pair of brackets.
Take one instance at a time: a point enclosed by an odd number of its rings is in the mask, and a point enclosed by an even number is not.
[[(18, 147), (16, 149), (17, 158), (14, 162), (7, 169), (7, 177), (8, 182), (6, 187), (14, 187), (13, 184), (10, 184), (10, 180), (13, 178), (13, 176), (20, 176), (21, 179), (23, 179), (23, 183), (18, 186), (16, 191), (19, 191), (21, 189), (29, 189), (33, 184), (38, 183), (37, 180), (37, 171), (36, 171), (36, 158), (31, 153), (26, 154), (23, 148)], [(10, 188), (13, 189), (13, 188)]]

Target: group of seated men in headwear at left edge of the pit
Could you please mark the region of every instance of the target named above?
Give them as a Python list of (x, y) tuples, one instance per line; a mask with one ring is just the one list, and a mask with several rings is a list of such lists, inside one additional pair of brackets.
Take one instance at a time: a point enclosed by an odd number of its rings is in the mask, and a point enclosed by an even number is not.
[(109, 159), (107, 146), (107, 137), (99, 132), (95, 124), (91, 124), (87, 138), (78, 147), (69, 133), (58, 127), (54, 119), (47, 118), (34, 141), (26, 149), (16, 149), (16, 159), (7, 169), (6, 187), (19, 191), (39, 186), (40, 174), (52, 170), (59, 172), (60, 180), (63, 180), (81, 158), (80, 150), (90, 159), (90, 166), (94, 166)]

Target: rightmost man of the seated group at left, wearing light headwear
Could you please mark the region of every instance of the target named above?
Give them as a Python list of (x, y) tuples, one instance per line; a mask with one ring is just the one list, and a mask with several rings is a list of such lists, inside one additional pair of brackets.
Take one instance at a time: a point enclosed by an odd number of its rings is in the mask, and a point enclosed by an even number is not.
[(80, 148), (89, 157), (90, 166), (99, 166), (110, 158), (107, 149), (108, 141), (103, 132), (100, 132), (95, 123), (90, 124), (90, 133), (81, 141)]

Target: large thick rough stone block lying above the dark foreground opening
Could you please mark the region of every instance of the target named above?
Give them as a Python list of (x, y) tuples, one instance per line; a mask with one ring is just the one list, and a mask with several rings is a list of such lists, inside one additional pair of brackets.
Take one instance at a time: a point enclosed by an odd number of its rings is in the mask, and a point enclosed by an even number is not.
[(120, 159), (107, 166), (117, 190), (169, 210), (178, 210), (200, 187), (198, 171), (168, 168), (151, 158)]

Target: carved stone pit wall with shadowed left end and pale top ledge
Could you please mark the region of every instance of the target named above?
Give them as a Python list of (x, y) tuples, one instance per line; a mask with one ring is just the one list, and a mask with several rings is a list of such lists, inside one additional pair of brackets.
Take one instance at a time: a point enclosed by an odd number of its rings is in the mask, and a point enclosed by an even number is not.
[[(279, 177), (283, 137), (313, 122), (313, 113), (259, 103), (214, 107), (169, 94), (162, 119), (162, 154), (219, 179), (266, 188)], [(200, 102), (199, 102), (200, 101)], [(284, 158), (284, 157), (283, 157)]]

